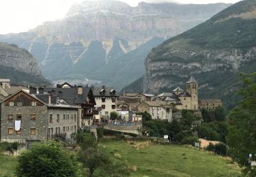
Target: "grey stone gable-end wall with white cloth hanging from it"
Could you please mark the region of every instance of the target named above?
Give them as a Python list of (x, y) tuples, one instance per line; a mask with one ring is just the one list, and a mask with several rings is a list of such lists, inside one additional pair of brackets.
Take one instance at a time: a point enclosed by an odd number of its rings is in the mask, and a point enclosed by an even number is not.
[[(13, 119), (8, 120), (8, 114), (13, 114)], [(15, 131), (17, 114), (21, 115), (20, 134)], [(35, 114), (35, 120), (31, 120)], [(23, 142), (27, 140), (46, 140), (47, 129), (46, 106), (4, 106), (1, 104), (1, 142)], [(13, 128), (13, 134), (8, 134), (8, 128)], [(31, 135), (31, 128), (35, 128), (35, 135)]]

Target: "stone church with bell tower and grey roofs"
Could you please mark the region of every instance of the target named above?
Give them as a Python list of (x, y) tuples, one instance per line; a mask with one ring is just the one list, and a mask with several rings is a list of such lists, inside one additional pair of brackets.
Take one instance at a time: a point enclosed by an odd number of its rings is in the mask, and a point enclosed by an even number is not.
[(198, 82), (193, 76), (186, 82), (186, 91), (177, 87), (171, 93), (161, 93), (156, 97), (161, 101), (173, 103), (178, 110), (199, 110)]

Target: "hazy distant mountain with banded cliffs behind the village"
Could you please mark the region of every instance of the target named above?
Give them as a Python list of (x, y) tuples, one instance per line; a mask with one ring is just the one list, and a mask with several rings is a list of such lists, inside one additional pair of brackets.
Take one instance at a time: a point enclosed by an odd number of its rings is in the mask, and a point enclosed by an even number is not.
[(143, 61), (164, 39), (207, 20), (230, 4), (178, 5), (85, 1), (65, 18), (0, 41), (26, 48), (50, 80), (95, 80), (119, 89), (141, 77)]

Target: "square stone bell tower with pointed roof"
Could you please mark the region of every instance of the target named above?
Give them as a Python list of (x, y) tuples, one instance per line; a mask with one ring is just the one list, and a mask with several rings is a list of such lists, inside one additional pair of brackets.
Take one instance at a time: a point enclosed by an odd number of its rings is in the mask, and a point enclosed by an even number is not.
[(186, 82), (186, 92), (191, 96), (191, 110), (198, 110), (198, 82), (193, 76)]

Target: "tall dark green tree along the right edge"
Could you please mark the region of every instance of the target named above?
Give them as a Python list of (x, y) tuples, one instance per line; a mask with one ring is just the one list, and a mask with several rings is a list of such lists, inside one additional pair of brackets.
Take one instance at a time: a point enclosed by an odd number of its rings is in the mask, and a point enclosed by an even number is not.
[(231, 111), (231, 127), (228, 129), (227, 143), (231, 158), (240, 165), (246, 165), (248, 176), (256, 176), (251, 168), (248, 155), (252, 154), (256, 161), (256, 72), (242, 74), (243, 88), (238, 92), (243, 99), (240, 106)]

